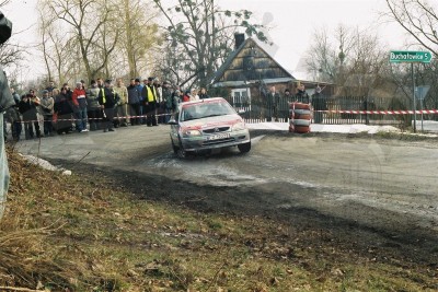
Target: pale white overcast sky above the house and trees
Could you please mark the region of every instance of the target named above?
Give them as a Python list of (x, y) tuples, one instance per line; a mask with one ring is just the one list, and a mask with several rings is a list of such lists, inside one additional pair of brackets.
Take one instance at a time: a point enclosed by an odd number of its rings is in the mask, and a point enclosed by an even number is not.
[[(274, 43), (265, 49), (296, 78), (304, 78), (300, 59), (310, 46), (315, 30), (334, 30), (343, 23), (359, 26), (378, 34), (382, 44), (391, 49), (403, 49), (402, 30), (395, 24), (383, 24), (378, 13), (385, 10), (384, 0), (216, 0), (223, 9), (247, 9), (258, 23), (273, 27), (266, 32)], [(36, 0), (12, 0), (3, 13), (13, 22), (13, 39), (33, 47), (36, 43)], [(43, 60), (37, 50), (27, 56), (26, 69), (21, 79), (44, 74)]]

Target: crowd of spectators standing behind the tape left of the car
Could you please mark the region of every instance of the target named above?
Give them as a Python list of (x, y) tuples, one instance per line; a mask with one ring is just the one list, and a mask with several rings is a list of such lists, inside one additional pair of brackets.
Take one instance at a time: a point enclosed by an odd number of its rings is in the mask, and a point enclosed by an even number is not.
[[(15, 106), (9, 108), (4, 121), (10, 124), (12, 139), (42, 138), (71, 132), (102, 130), (114, 131), (118, 127), (166, 124), (182, 102), (208, 98), (205, 89), (183, 92), (178, 85), (155, 78), (96, 79), (89, 85), (77, 82), (71, 89), (68, 83), (55, 86), (55, 82), (37, 92), (31, 89), (20, 94), (11, 89)], [(39, 95), (39, 96), (38, 96)], [(4, 139), (8, 132), (4, 122)]]

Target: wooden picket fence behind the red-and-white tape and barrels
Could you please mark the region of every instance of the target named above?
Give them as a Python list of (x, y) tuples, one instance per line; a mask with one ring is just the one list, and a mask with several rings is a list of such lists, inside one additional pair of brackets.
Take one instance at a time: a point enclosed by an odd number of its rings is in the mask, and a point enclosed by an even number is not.
[[(265, 116), (266, 106), (260, 101), (249, 101), (247, 97), (231, 96), (227, 101), (237, 109), (241, 110), (241, 116), (246, 122), (264, 122), (267, 121)], [(293, 97), (281, 97), (278, 106), (279, 121), (288, 121), (289, 103), (295, 102)], [(336, 96), (328, 97), (326, 105), (328, 110), (391, 110), (391, 109), (408, 109), (391, 107), (390, 98), (376, 97), (357, 97), (357, 96)], [(400, 125), (403, 121), (410, 121), (411, 115), (366, 115), (366, 114), (341, 114), (324, 113), (323, 124), (341, 125), (341, 124), (370, 124), (370, 125)], [(313, 122), (313, 120), (312, 120)]]

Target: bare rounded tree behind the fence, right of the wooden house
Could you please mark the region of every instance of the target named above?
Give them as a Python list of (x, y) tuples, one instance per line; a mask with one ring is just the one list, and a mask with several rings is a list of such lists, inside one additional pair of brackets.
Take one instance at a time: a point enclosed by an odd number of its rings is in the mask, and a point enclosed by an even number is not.
[(337, 84), (338, 94), (368, 95), (387, 65), (377, 35), (339, 25), (332, 35), (315, 31), (307, 51), (314, 80)]

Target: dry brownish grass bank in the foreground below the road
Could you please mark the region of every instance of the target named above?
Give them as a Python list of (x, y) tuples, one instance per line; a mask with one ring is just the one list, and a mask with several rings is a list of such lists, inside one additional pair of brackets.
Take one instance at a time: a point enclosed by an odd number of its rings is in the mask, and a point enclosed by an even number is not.
[[(13, 152), (9, 157), (12, 185), (0, 222), (1, 291), (437, 288), (436, 270), (357, 255), (322, 231), (145, 201), (110, 178), (66, 177)], [(315, 238), (324, 244), (308, 244)]]

